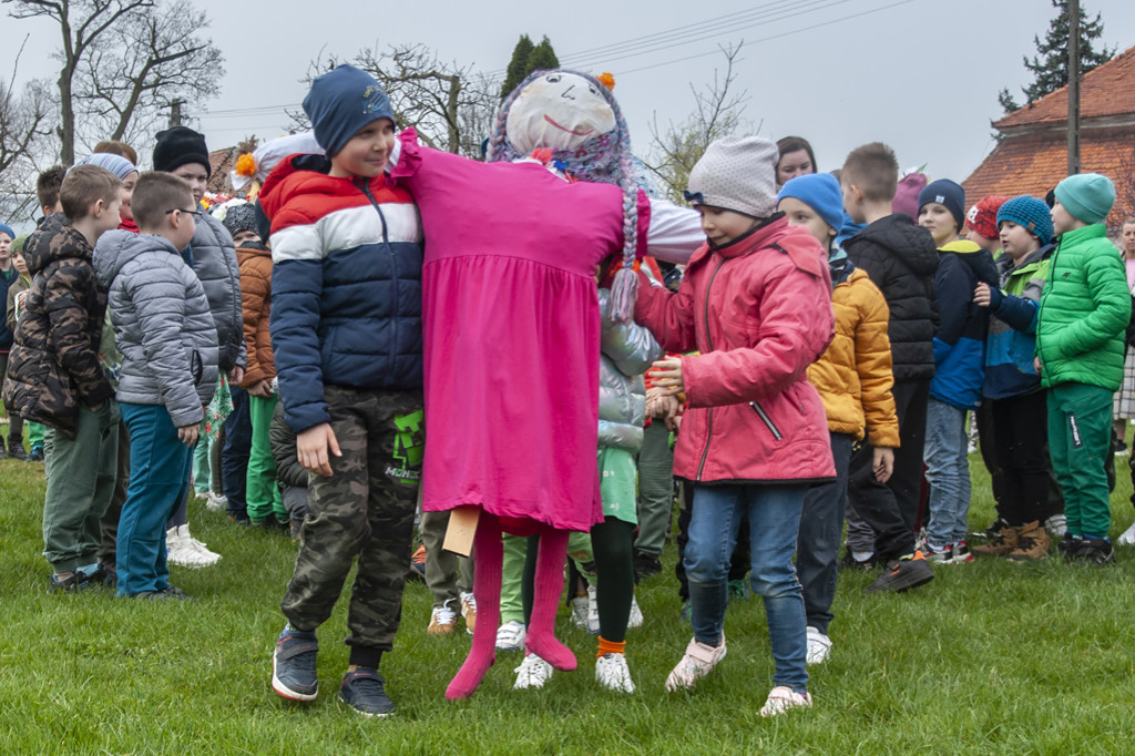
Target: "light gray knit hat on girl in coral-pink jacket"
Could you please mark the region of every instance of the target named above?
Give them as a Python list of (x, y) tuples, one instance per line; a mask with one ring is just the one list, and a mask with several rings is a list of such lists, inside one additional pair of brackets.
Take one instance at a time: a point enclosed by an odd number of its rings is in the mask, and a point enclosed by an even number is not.
[(723, 136), (690, 171), (686, 200), (767, 218), (776, 208), (779, 156), (763, 136)]

